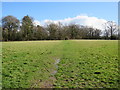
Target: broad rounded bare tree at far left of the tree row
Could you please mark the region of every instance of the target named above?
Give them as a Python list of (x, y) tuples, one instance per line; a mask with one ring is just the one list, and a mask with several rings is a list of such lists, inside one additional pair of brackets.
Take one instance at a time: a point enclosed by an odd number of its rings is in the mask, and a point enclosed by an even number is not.
[(15, 33), (19, 27), (19, 24), (19, 20), (14, 16), (9, 15), (2, 18), (3, 38), (8, 38), (7, 40), (15, 40)]

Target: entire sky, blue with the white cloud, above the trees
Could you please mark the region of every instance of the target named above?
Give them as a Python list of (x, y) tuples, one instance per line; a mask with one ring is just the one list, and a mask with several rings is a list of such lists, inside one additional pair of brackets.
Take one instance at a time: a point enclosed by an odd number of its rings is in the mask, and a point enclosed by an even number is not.
[(21, 20), (25, 15), (34, 18), (35, 25), (61, 22), (92, 26), (98, 29), (109, 20), (117, 22), (117, 2), (4, 2), (2, 15)]

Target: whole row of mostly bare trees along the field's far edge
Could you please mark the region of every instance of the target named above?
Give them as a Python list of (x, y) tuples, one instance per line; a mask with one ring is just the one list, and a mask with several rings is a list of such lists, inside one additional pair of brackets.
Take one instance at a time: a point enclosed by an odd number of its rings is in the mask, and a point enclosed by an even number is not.
[(78, 24), (50, 23), (45, 26), (33, 24), (33, 18), (24, 16), (22, 21), (14, 16), (2, 18), (2, 41), (68, 40), (68, 39), (118, 39), (116, 23), (108, 21), (104, 30)]

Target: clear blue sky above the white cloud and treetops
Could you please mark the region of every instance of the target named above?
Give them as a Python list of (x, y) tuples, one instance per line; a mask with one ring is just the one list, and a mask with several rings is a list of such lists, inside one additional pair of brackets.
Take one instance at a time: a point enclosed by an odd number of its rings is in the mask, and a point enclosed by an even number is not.
[(36, 20), (58, 20), (77, 15), (88, 15), (117, 21), (117, 2), (3, 2), (3, 16), (22, 19), (30, 15)]

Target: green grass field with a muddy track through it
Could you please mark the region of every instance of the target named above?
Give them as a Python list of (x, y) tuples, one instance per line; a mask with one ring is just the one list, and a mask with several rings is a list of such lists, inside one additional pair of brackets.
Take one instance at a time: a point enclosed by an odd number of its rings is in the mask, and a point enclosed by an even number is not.
[(4, 88), (117, 88), (118, 42), (3, 42)]

